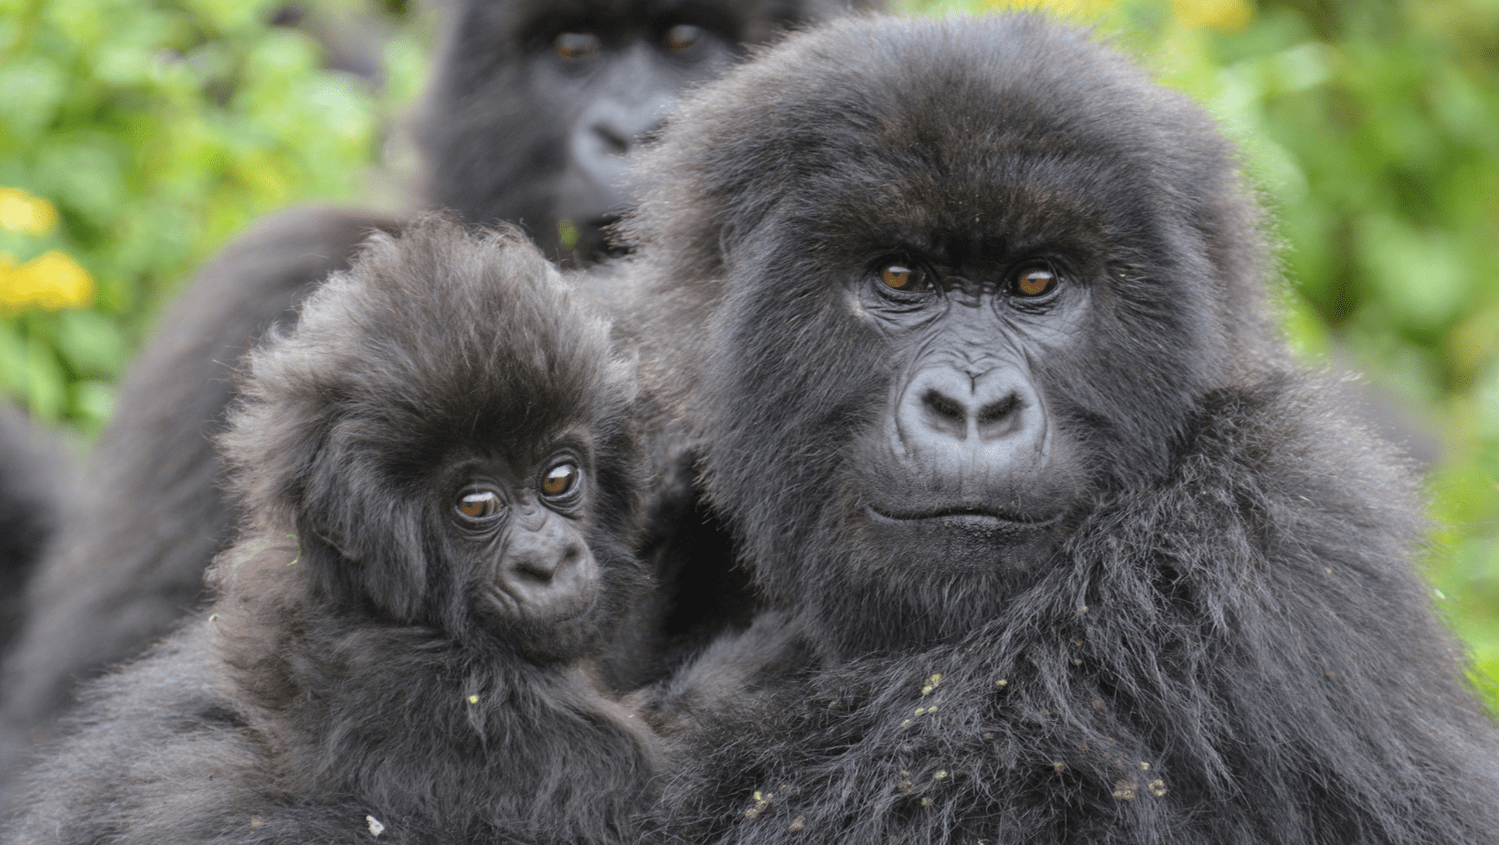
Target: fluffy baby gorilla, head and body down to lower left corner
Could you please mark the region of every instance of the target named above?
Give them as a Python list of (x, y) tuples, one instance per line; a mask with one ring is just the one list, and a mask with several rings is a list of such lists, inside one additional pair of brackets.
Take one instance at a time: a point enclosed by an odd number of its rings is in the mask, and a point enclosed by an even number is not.
[(633, 371), (511, 228), (376, 236), (249, 359), (217, 600), (91, 692), (6, 842), (616, 842), (654, 738)]

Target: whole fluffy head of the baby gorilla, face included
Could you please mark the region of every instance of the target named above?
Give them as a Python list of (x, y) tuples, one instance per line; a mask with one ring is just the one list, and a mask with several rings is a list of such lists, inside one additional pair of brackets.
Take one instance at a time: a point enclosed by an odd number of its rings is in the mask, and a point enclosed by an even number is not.
[(643, 591), (633, 375), (514, 227), (372, 239), (252, 368), (222, 440), (244, 510), (295, 525), (340, 611), (546, 662)]

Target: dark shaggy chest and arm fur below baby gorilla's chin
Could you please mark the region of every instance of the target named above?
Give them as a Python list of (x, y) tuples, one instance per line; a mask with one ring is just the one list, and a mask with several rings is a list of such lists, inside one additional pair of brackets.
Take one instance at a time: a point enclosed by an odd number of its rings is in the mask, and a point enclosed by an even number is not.
[(280, 773), (271, 803), (369, 815), (396, 840), (630, 836), (655, 740), (586, 668), (412, 626), (298, 629), (234, 675)]

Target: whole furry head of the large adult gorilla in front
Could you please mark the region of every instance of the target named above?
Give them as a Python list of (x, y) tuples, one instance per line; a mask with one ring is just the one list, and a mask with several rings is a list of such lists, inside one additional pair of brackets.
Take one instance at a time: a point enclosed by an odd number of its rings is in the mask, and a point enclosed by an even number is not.
[(672, 288), (642, 306), (664, 309), (655, 389), (709, 497), (757, 579), (848, 648), (1003, 612), (1252, 357), (1226, 144), (1037, 23), (833, 24), (817, 80), (793, 39), (684, 107), (633, 224), (642, 285)]

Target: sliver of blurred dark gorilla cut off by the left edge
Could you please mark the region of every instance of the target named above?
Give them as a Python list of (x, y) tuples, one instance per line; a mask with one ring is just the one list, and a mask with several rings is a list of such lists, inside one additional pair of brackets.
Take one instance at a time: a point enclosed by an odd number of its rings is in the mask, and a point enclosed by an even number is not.
[(0, 405), (0, 647), (21, 621), (21, 591), (61, 518), (72, 473), (58, 444)]

